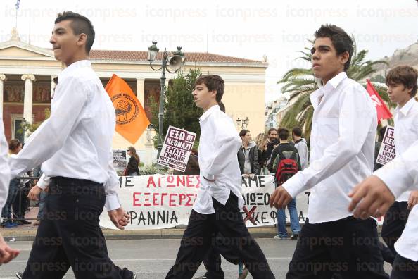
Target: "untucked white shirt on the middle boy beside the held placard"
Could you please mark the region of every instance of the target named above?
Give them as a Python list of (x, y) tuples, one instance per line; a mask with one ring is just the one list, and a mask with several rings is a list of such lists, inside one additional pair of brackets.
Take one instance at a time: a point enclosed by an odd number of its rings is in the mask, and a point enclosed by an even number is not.
[[(198, 190), (193, 209), (201, 214), (215, 213), (212, 198), (226, 204), (230, 192), (238, 197), (242, 208), (241, 171), (236, 153), (242, 141), (236, 132), (232, 119), (219, 106), (212, 106), (199, 118), (201, 137), (198, 159), (201, 168), (201, 187)], [(215, 180), (210, 182), (206, 180)]]

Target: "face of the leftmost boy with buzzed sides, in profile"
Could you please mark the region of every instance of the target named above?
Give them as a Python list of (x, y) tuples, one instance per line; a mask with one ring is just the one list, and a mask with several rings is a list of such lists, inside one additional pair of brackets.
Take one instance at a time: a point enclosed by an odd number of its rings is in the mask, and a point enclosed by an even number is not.
[(84, 33), (80, 35), (74, 34), (71, 20), (63, 20), (56, 23), (49, 40), (52, 44), (53, 56), (55, 56), (56, 60), (65, 63), (65, 65), (70, 65), (80, 51), (80, 46), (82, 46), (81, 50), (84, 51), (83, 41), (85, 44), (85, 37)]

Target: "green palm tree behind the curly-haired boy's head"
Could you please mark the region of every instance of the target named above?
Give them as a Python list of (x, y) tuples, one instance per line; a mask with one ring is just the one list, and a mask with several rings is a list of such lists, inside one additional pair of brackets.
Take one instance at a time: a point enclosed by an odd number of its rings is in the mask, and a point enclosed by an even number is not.
[[(351, 79), (366, 86), (365, 79), (377, 72), (375, 66), (379, 64), (385, 64), (387, 66), (388, 63), (383, 60), (365, 61), (368, 51), (361, 50), (357, 52), (354, 38), (353, 42), (353, 58), (351, 58), (347, 75)], [(305, 51), (298, 52), (302, 54), (302, 56), (298, 57), (299, 59), (303, 59), (310, 63), (312, 54), (310, 54), (310, 49), (308, 47), (305, 47)], [(277, 82), (283, 84), (281, 92), (283, 94), (289, 94), (289, 102), (294, 101), (281, 119), (280, 127), (293, 128), (298, 125), (303, 128), (307, 140), (310, 138), (313, 116), (313, 107), (312, 104), (310, 104), (310, 94), (319, 88), (317, 82), (318, 80), (315, 79), (312, 68), (293, 68), (285, 73), (281, 80)], [(374, 84), (374, 87), (386, 104), (390, 107), (395, 106), (388, 97), (386, 87), (379, 84)], [(295, 98), (297, 98), (296, 101)]]

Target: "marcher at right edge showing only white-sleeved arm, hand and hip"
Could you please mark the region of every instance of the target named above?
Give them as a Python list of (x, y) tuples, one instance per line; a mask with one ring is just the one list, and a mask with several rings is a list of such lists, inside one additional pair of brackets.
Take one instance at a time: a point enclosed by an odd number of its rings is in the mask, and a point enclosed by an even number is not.
[[(375, 171), (350, 194), (349, 210), (356, 218), (379, 218), (407, 190), (418, 190), (418, 140), (399, 156)], [(391, 279), (418, 278), (418, 206), (414, 206), (405, 230), (395, 243)]]

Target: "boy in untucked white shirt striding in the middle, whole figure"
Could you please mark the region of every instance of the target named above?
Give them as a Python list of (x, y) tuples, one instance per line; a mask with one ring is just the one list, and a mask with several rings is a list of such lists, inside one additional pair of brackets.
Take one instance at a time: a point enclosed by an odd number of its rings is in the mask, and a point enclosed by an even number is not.
[(274, 278), (257, 242), (248, 233), (240, 212), (244, 201), (236, 153), (242, 141), (232, 119), (220, 111), (224, 80), (202, 75), (194, 86), (194, 102), (203, 109), (198, 159), (201, 187), (194, 202), (175, 265), (165, 278), (190, 279), (217, 233), (224, 246), (243, 262), (253, 278)]

